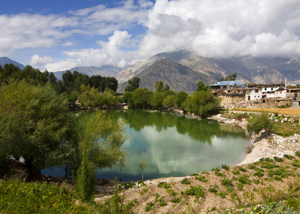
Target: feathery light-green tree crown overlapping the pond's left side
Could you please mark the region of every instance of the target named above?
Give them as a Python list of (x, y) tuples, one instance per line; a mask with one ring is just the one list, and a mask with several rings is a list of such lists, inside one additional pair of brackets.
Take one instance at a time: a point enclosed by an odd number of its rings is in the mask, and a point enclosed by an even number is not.
[(124, 121), (113, 121), (101, 111), (96, 111), (79, 134), (81, 156), (86, 152), (89, 163), (96, 168), (117, 165), (125, 155), (121, 149), (126, 141), (125, 125)]

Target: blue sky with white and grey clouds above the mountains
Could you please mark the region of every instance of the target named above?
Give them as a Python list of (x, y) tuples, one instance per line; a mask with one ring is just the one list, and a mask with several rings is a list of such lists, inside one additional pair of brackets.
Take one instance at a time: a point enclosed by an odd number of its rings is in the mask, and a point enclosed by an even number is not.
[(10, 0), (0, 57), (41, 71), (118, 66), (169, 51), (300, 57), (300, 0)]

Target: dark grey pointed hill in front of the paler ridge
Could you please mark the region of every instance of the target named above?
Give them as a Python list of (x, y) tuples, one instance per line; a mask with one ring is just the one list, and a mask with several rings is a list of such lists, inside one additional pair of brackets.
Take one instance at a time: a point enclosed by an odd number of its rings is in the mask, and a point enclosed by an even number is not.
[[(201, 79), (209, 80), (209, 76), (206, 74), (193, 71), (169, 58), (161, 58), (136, 76), (140, 78), (139, 86), (141, 88), (154, 90), (156, 82), (160, 80), (164, 84), (168, 84), (171, 90), (188, 93), (196, 91), (196, 83)], [(126, 85), (126, 82), (119, 84), (118, 91), (124, 91)]]

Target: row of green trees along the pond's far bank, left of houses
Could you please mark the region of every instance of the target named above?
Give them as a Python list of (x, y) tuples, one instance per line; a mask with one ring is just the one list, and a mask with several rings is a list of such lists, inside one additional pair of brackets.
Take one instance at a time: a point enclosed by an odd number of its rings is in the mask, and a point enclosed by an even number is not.
[(199, 116), (207, 116), (219, 111), (219, 99), (211, 93), (203, 81), (197, 83), (197, 91), (190, 95), (185, 91), (170, 90), (162, 81), (156, 83), (156, 91), (147, 88), (136, 88), (133, 92), (126, 91), (121, 101), (131, 108), (179, 108)]

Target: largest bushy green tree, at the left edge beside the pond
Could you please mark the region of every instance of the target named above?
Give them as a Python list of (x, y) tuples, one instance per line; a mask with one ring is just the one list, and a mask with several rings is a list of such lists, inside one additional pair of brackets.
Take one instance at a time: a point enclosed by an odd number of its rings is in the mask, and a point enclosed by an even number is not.
[(22, 157), (29, 179), (41, 169), (64, 165), (63, 151), (76, 146), (64, 96), (57, 96), (49, 84), (13, 80), (1, 86), (0, 97), (2, 155)]

